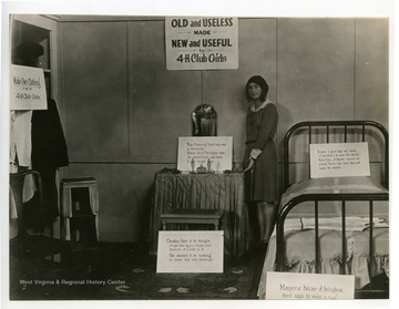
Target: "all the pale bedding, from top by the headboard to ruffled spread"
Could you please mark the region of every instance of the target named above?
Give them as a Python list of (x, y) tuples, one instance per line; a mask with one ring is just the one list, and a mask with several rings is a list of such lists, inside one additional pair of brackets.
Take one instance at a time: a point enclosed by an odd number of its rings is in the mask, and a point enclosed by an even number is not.
[[(305, 194), (388, 194), (388, 190), (380, 185), (376, 185), (370, 177), (326, 177), (308, 179), (294, 184), (282, 196), (280, 209), (290, 203), (297, 196)], [(339, 202), (329, 203), (327, 207), (319, 205), (319, 265), (321, 274), (342, 274), (344, 260), (345, 274), (355, 275), (355, 288), (359, 289), (370, 282), (368, 272), (369, 255), (369, 225), (368, 207), (364, 202), (350, 202), (355, 207), (347, 209), (346, 216), (346, 238), (347, 256), (342, 257), (341, 238), (341, 207)], [(330, 205), (330, 204), (336, 205)], [(304, 204), (304, 205), (303, 205)], [(289, 272), (316, 272), (315, 258), (315, 226), (314, 203), (303, 203), (296, 205), (288, 214), (285, 224), (285, 253), (284, 271)], [(306, 205), (309, 204), (309, 205)], [(376, 203), (377, 204), (377, 203)], [(359, 207), (356, 207), (359, 206)], [(376, 205), (377, 206), (377, 205)], [(379, 206), (379, 205), (378, 205)], [(308, 208), (307, 208), (308, 207)], [(349, 208), (349, 207), (347, 207)], [(300, 209), (300, 210), (299, 210)], [(389, 228), (388, 212), (382, 205), (378, 209), (374, 224), (374, 257), (371, 277), (381, 272), (389, 274)], [(354, 216), (352, 214), (357, 214)], [(375, 214), (377, 215), (377, 214)], [(276, 271), (276, 230), (274, 231), (267, 248), (260, 282), (258, 287), (258, 297), (265, 298), (267, 271)]]

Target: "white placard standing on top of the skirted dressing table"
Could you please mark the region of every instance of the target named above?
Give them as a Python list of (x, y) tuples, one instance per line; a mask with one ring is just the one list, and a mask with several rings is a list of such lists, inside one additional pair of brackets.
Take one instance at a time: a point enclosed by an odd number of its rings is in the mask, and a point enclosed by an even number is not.
[(233, 136), (178, 137), (177, 169), (223, 173), (233, 166)]

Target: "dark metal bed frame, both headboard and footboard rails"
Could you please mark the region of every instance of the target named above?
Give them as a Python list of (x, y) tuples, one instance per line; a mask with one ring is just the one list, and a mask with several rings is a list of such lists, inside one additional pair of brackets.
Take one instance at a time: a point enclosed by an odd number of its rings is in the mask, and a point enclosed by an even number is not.
[[(307, 128), (308, 131), (308, 142), (309, 144), (311, 141), (311, 133), (315, 128), (324, 128), (326, 134), (327, 143), (330, 143), (330, 132), (331, 127), (342, 131), (344, 141), (348, 143), (348, 131), (350, 128), (354, 130), (361, 130), (361, 142), (366, 141), (366, 132), (367, 130), (372, 130), (379, 132), (379, 134), (383, 137), (383, 152), (385, 152), (385, 168), (383, 168), (383, 177), (382, 177), (382, 186), (388, 189), (389, 187), (389, 136), (387, 130), (379, 123), (374, 121), (307, 121), (300, 122), (291, 126), (285, 137), (284, 137), (284, 189), (288, 189), (290, 186), (289, 184), (289, 166), (294, 162), (289, 162), (289, 140), (297, 133), (298, 131), (304, 131)], [(374, 127), (374, 128), (372, 128)], [(335, 134), (337, 134), (337, 130), (335, 130)], [(300, 132), (304, 134), (304, 132)], [(277, 271), (283, 271), (284, 269), (284, 253), (285, 253), (285, 245), (284, 245), (284, 223), (288, 215), (288, 213), (298, 204), (304, 202), (313, 202), (314, 203), (314, 212), (315, 212), (315, 260), (316, 260), (316, 272), (320, 274), (320, 259), (319, 259), (319, 230), (318, 230), (318, 207), (319, 202), (331, 200), (331, 202), (340, 202), (341, 203), (341, 240), (342, 240), (342, 257), (347, 254), (346, 248), (346, 225), (345, 225), (345, 217), (346, 217), (346, 202), (354, 202), (354, 200), (361, 200), (369, 203), (369, 219), (370, 219), (370, 228), (369, 228), (369, 260), (372, 257), (374, 253), (374, 243), (372, 243), (372, 218), (374, 218), (374, 202), (377, 200), (389, 200), (388, 193), (347, 193), (347, 194), (304, 194), (297, 197), (294, 197), (289, 200), (286, 205), (282, 205), (278, 218), (277, 218), (277, 251), (276, 251), (276, 269)], [(345, 275), (346, 271), (346, 259), (342, 258), (342, 267), (341, 272)], [(372, 262), (369, 264), (369, 276), (371, 279), (372, 274)], [(370, 282), (368, 289), (359, 289), (355, 291), (356, 298), (389, 298), (389, 290), (381, 290), (372, 287)]]

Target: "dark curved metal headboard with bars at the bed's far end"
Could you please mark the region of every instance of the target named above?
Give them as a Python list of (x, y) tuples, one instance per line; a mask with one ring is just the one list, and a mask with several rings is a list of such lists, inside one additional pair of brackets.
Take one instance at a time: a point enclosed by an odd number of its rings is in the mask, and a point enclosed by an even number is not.
[[(308, 153), (309, 144), (377, 141), (383, 152), (381, 185), (389, 188), (389, 136), (381, 124), (374, 121), (305, 121), (293, 125), (284, 136), (284, 190), (291, 185), (290, 167), (297, 163), (291, 159), (291, 138), (299, 134), (307, 135), (305, 147), (299, 150), (304, 153)], [(309, 159), (309, 155), (306, 157)]]

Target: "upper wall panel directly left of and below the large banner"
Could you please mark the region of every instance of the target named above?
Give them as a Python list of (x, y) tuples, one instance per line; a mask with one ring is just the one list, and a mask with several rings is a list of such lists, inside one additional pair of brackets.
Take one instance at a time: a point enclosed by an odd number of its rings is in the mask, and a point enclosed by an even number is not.
[(177, 162), (178, 136), (192, 135), (202, 103), (201, 71), (166, 71), (163, 21), (129, 22), (130, 154)]

